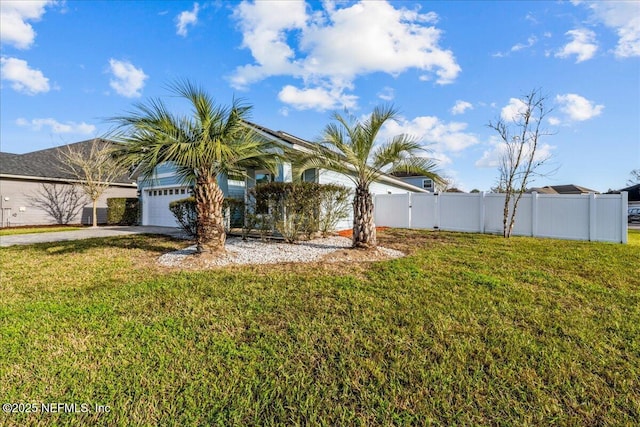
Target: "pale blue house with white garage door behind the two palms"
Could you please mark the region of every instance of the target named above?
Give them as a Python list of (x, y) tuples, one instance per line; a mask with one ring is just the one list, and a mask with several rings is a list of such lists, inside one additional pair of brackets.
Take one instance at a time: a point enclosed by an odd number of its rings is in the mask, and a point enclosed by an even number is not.
[[(273, 142), (283, 150), (306, 151), (313, 147), (313, 143), (297, 138), (282, 131), (273, 131), (266, 127), (247, 123), (262, 138)], [(256, 183), (280, 181), (290, 182), (292, 180), (291, 162), (283, 162), (278, 166), (278, 173), (271, 176), (264, 170), (248, 170), (247, 178), (240, 180), (227, 179), (220, 175), (218, 183), (223, 193), (227, 197), (244, 199), (246, 192)], [(319, 184), (340, 184), (348, 188), (355, 188), (353, 182), (345, 175), (327, 170), (310, 169), (304, 172), (303, 180), (307, 182), (317, 182)], [(138, 179), (140, 195), (142, 198), (142, 224), (159, 226), (176, 226), (176, 221), (169, 210), (169, 203), (188, 197), (190, 189), (183, 185), (176, 176), (173, 167), (165, 163), (156, 168), (155, 176), (148, 180)], [(383, 175), (380, 179), (371, 184), (372, 194), (393, 194), (407, 192), (425, 192), (425, 190), (406, 183), (396, 177)], [(352, 227), (352, 219), (346, 219), (338, 224), (338, 229)]]

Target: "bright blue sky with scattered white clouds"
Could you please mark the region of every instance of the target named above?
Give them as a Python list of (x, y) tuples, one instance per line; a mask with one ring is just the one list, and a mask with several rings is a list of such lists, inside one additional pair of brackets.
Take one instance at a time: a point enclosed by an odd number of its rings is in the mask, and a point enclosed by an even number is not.
[[(316, 140), (334, 111), (393, 103), (464, 190), (495, 185), (487, 123), (539, 88), (553, 110), (535, 185), (621, 188), (640, 168), (640, 2), (0, 2), (0, 143), (102, 136), (190, 79), (252, 120)], [(168, 99), (176, 111), (184, 104)], [(185, 111), (186, 112), (186, 111)], [(544, 172), (545, 170), (543, 170)]]

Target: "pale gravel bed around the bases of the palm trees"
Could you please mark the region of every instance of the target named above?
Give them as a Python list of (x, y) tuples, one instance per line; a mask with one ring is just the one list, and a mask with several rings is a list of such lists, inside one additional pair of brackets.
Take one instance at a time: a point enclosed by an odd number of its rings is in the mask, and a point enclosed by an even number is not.
[[(314, 239), (308, 242), (289, 244), (273, 241), (242, 240), (239, 237), (227, 239), (226, 252), (217, 258), (207, 260), (209, 266), (225, 266), (232, 264), (279, 264), (286, 262), (312, 262), (323, 257), (331, 261), (326, 255), (351, 247), (351, 239), (332, 236)], [(377, 248), (377, 252), (386, 258), (399, 258), (404, 253), (387, 248)], [(196, 247), (169, 252), (158, 259), (158, 263), (165, 267), (179, 267), (190, 256), (196, 253)], [(339, 259), (338, 259), (339, 260)]]

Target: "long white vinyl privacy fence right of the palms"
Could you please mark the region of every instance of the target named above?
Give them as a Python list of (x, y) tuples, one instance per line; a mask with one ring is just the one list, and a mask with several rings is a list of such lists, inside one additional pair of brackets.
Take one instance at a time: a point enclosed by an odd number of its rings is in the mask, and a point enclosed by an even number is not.
[[(405, 193), (374, 198), (375, 223), (502, 234), (504, 194)], [(627, 193), (524, 194), (514, 235), (627, 243)]]

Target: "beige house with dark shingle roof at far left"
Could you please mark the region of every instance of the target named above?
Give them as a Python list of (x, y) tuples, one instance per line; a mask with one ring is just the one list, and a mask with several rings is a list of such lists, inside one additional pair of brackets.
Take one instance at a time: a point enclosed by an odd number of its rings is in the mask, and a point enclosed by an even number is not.
[[(78, 181), (62, 169), (58, 157), (60, 149), (71, 147), (88, 151), (95, 142), (107, 143), (92, 139), (25, 154), (0, 152), (0, 226), (55, 224), (46, 211), (34, 204), (34, 199), (41, 198), (39, 193), (43, 185), (55, 184), (65, 188), (77, 184)], [(137, 197), (136, 183), (124, 176), (111, 185), (98, 200), (98, 223), (107, 222), (107, 198), (110, 197)], [(80, 213), (70, 224), (91, 224), (91, 221), (92, 204), (86, 199)]]

